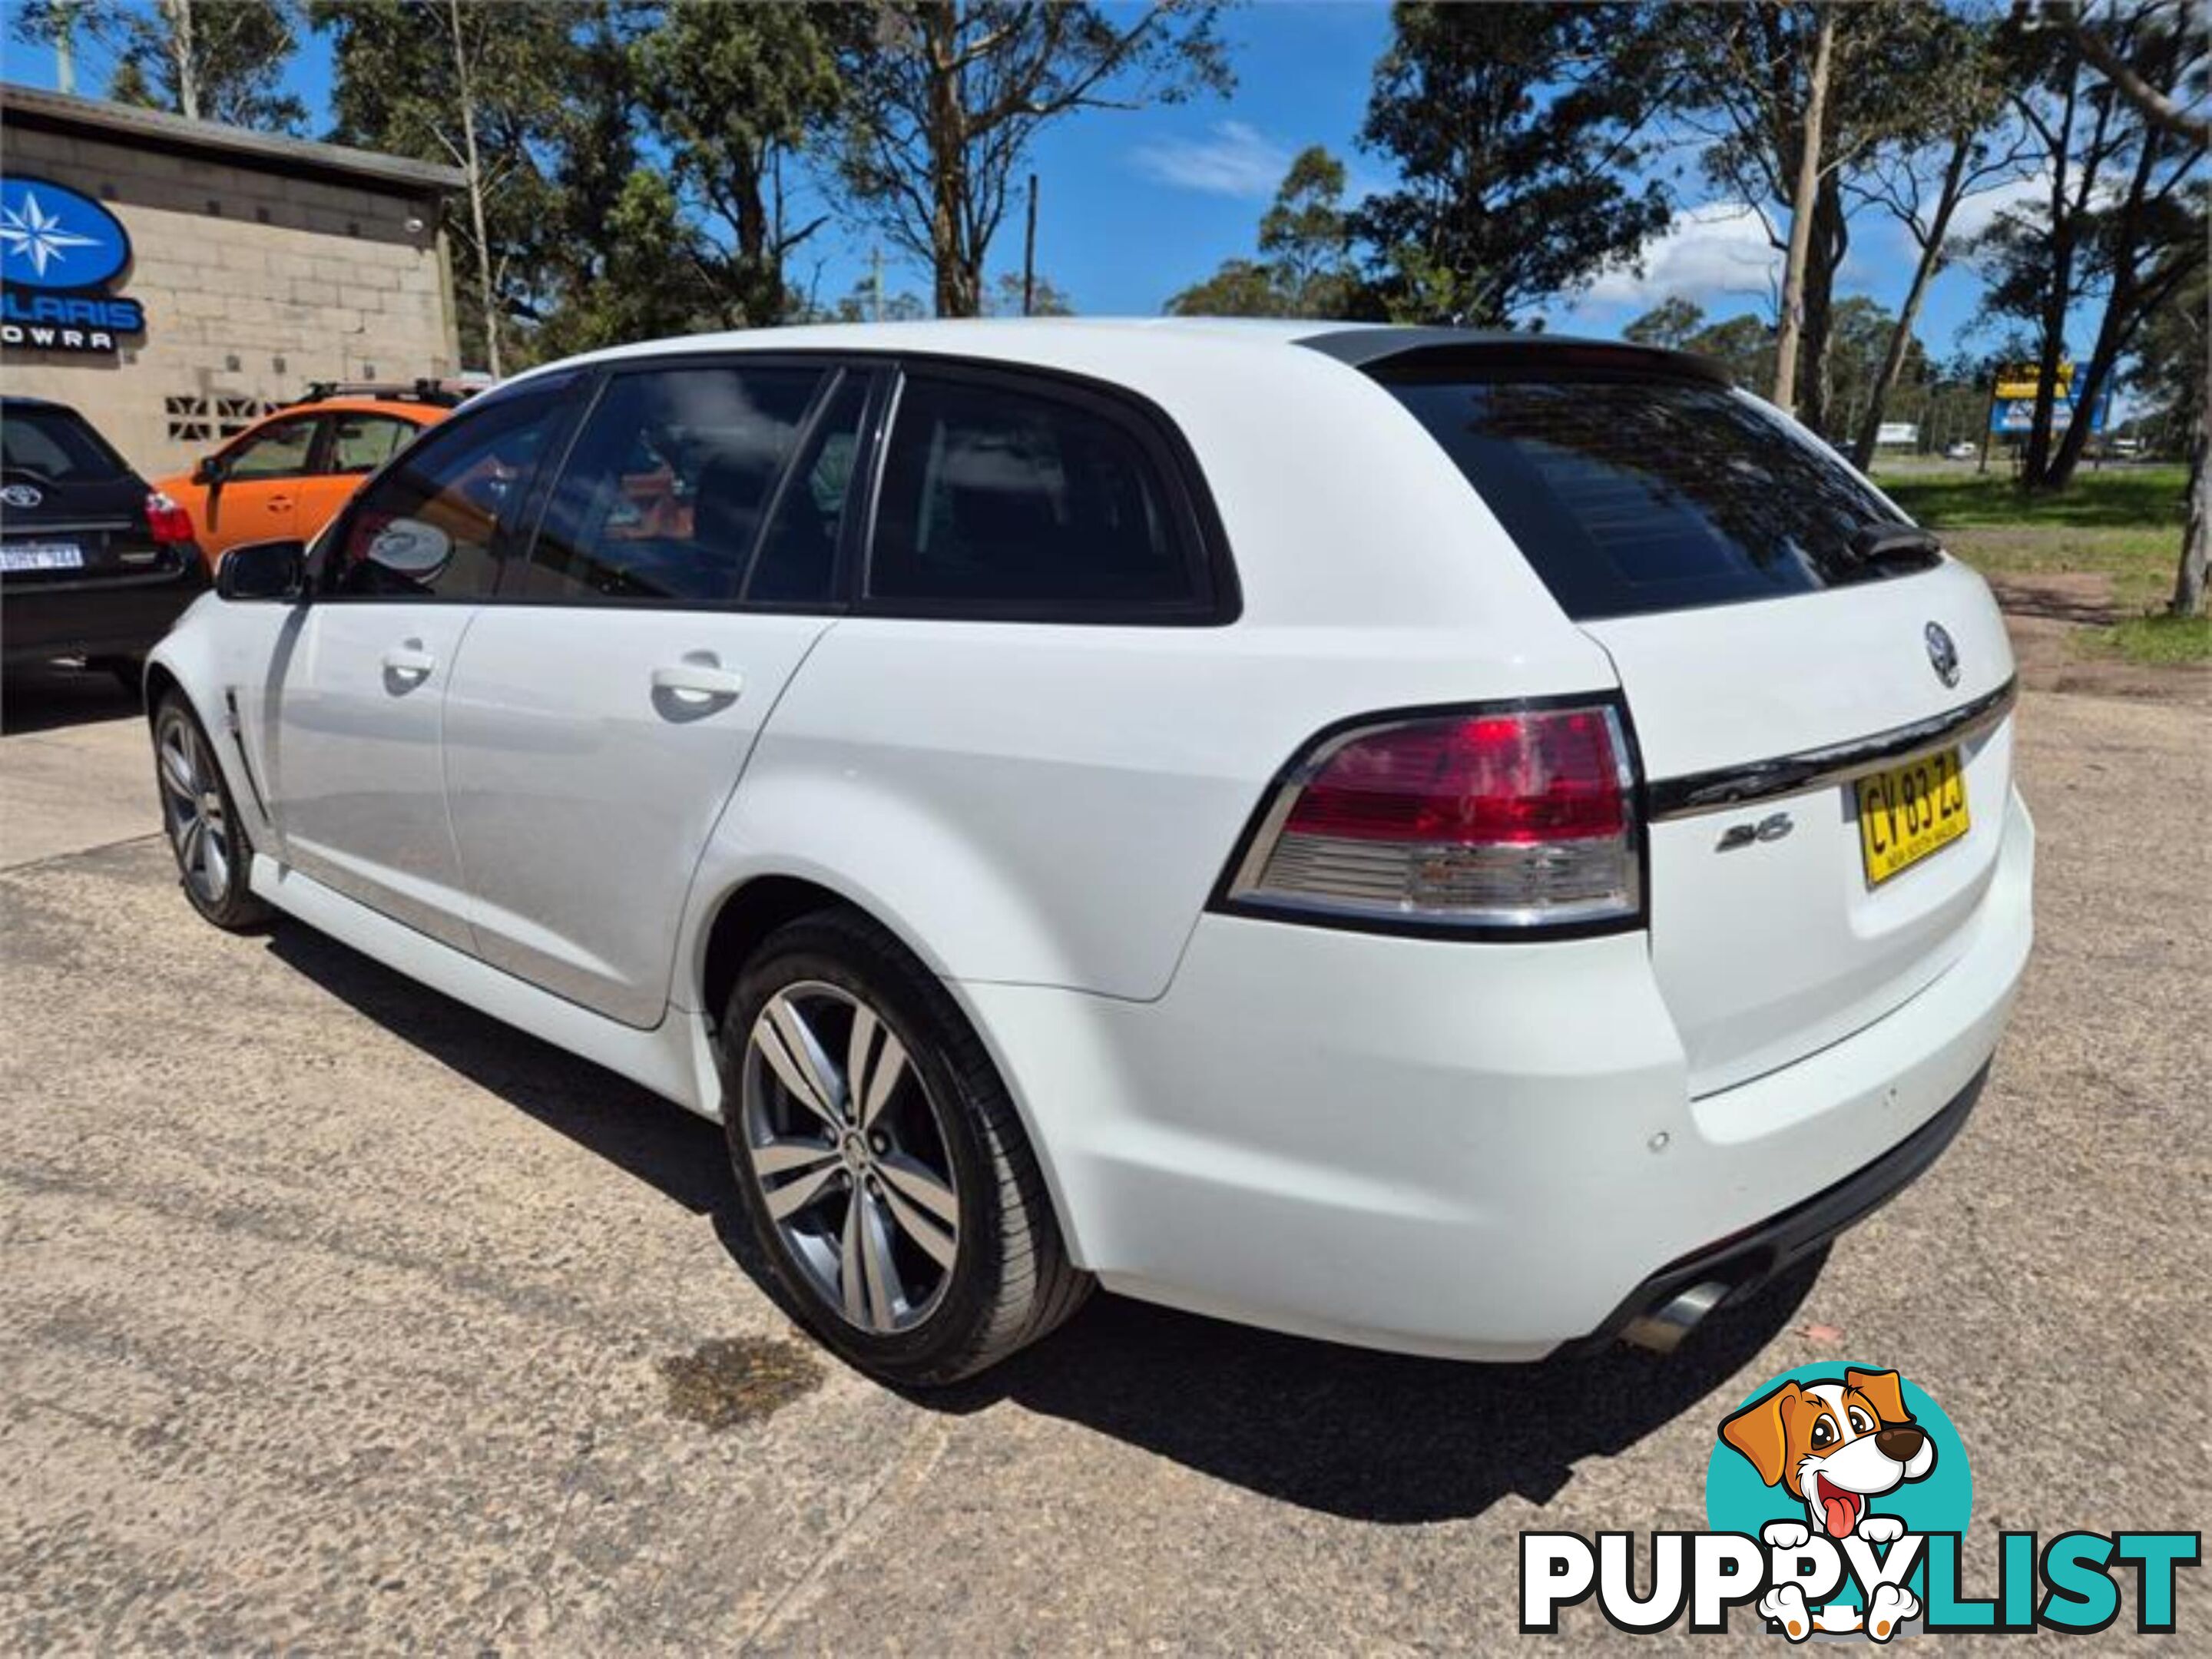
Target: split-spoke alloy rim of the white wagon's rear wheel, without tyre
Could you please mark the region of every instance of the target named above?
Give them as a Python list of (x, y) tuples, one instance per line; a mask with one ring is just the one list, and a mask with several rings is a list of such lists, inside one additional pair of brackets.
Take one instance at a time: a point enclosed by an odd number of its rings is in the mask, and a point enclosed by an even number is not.
[(821, 980), (779, 989), (745, 1037), (743, 1148), (790, 1256), (849, 1325), (925, 1321), (960, 1256), (936, 1099), (889, 1024)]

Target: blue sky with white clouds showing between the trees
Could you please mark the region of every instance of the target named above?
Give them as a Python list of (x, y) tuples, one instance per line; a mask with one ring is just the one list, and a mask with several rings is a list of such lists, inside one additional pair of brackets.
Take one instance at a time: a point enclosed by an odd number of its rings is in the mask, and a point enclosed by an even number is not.
[[(1374, 60), (1389, 40), (1385, 4), (1259, 0), (1223, 20), (1237, 91), (1144, 111), (1088, 111), (1066, 119), (1033, 146), (1040, 175), (1037, 268), (1077, 312), (1155, 314), (1177, 290), (1210, 274), (1223, 259), (1250, 254), (1259, 215), (1290, 157), (1325, 144), (1352, 170), (1354, 192), (1389, 184), (1380, 157), (1356, 146)], [(80, 62), (80, 91), (100, 91), (106, 64)], [(53, 84), (49, 51), (9, 42), (7, 77)], [(290, 66), (292, 88), (316, 126), (330, 91), (330, 53), (307, 35)], [(1615, 334), (1650, 305), (1683, 294), (1710, 316), (1770, 307), (1770, 272), (1778, 257), (1759, 219), (1741, 204), (1719, 201), (1697, 173), (1694, 153), (1670, 155), (1668, 173), (1681, 197), (1677, 228), (1646, 250), (1646, 272), (1610, 272), (1582, 299), (1548, 312), (1551, 327)], [(1969, 204), (1969, 228), (1986, 221), (2000, 197)], [(814, 281), (827, 303), (865, 274), (874, 237), (854, 226), (825, 230), (794, 261), (792, 279)], [(889, 257), (889, 250), (887, 250)], [(1020, 206), (993, 246), (993, 270), (1020, 270)], [(1913, 250), (1887, 215), (1863, 212), (1843, 270), (1843, 292), (1871, 294), (1896, 307), (1911, 279)], [(887, 285), (929, 292), (927, 272), (898, 268)], [(1947, 356), (1973, 319), (1980, 285), (1955, 265), (1940, 276), (1922, 312), (1920, 336)]]

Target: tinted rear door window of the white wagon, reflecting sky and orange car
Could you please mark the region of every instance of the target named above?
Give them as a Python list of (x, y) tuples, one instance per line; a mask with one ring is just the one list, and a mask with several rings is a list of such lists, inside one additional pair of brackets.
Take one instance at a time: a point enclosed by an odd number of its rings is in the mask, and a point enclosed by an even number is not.
[(821, 369), (615, 376), (538, 529), (529, 597), (732, 599)]

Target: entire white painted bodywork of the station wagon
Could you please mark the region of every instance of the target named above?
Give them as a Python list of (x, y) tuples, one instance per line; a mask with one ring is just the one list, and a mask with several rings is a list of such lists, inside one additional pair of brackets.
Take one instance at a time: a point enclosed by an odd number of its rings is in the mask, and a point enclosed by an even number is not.
[[(1312, 332), (945, 323), (608, 354), (885, 352), (1126, 387), (1203, 469), (1228, 626), (204, 599), (155, 684), (219, 737), (254, 891), (425, 984), (712, 1117), (717, 918), (750, 883), (814, 883), (945, 980), (1106, 1285), (1546, 1354), (1663, 1263), (1867, 1168), (1986, 1066), (2033, 933), (2011, 721), (1964, 739), (1971, 834), (1893, 883), (1865, 887), (1847, 785), (1825, 783), (1644, 825), (1648, 925), (1597, 938), (1221, 914), (1276, 776), (1354, 717), (1617, 692), (1641, 776), (1670, 781), (1942, 714), (2002, 690), (2011, 655), (1955, 564), (1573, 624), (1420, 422), (1296, 345)], [(436, 661), (422, 695), (369, 697), (407, 639)], [(655, 701), (653, 672), (697, 653), (741, 690)], [(1717, 856), (1772, 812), (1787, 838)]]

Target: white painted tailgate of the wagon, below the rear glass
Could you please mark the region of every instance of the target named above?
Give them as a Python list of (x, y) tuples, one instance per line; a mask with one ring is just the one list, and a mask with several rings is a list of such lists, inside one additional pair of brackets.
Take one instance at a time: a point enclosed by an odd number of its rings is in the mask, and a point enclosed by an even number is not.
[[(1958, 686), (1929, 666), (1931, 622), (1958, 641)], [(1619, 670), (1655, 779), (1889, 732), (2013, 677), (2004, 619), (1962, 564), (1582, 628)], [(1876, 889), (1860, 874), (1849, 790), (1834, 783), (1650, 827), (1652, 967), (1690, 1053), (1692, 1093), (1849, 1035), (1955, 958), (1997, 865), (2011, 728), (1962, 748), (1969, 836)], [(1717, 849), (1732, 825), (1774, 812), (1790, 814), (1787, 838)]]

